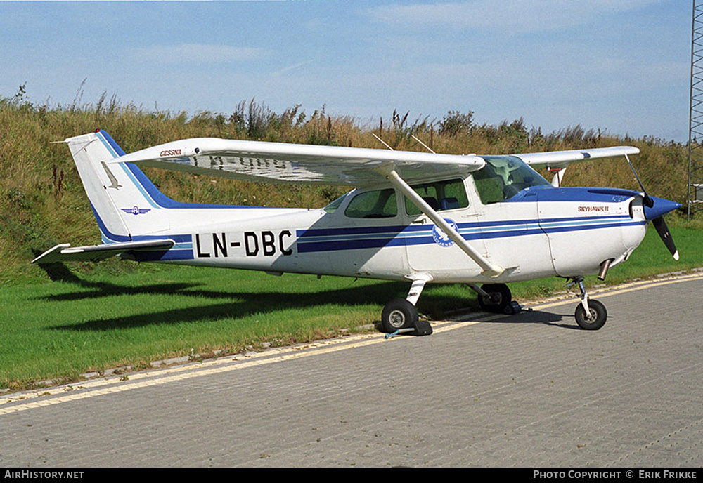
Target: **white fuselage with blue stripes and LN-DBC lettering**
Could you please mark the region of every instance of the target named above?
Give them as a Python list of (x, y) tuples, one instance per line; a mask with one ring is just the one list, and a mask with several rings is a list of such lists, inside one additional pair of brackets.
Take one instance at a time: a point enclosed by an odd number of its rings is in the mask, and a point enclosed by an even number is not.
[(357, 196), (374, 190), (354, 190), (335, 209), (213, 209), (213, 223), (202, 223), (207, 218), (202, 209), (181, 209), (170, 220), (169, 234), (160, 235), (175, 235), (176, 245), (134, 256), (273, 273), (389, 280), (430, 274), (433, 282), (505, 283), (597, 273), (605, 260), (611, 265), (626, 260), (645, 234), (647, 221), (636, 192), (534, 187), (482, 204), (470, 177), (463, 186), (467, 206), (440, 214), (479, 253), (505, 268), (499, 277), (483, 274), (427, 216), (408, 214), (397, 193), (392, 215), (363, 217), (350, 211)]

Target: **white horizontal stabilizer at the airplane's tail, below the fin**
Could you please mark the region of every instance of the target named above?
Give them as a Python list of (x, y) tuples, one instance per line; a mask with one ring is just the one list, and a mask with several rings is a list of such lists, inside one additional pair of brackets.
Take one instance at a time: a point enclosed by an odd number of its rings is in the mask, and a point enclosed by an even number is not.
[(147, 241), (126, 241), (124, 243), (113, 243), (91, 246), (74, 246), (63, 243), (47, 250), (32, 263), (56, 263), (56, 262), (96, 262), (111, 256), (119, 255), (125, 251), (144, 250), (168, 250), (174, 246), (171, 239), (147, 240)]

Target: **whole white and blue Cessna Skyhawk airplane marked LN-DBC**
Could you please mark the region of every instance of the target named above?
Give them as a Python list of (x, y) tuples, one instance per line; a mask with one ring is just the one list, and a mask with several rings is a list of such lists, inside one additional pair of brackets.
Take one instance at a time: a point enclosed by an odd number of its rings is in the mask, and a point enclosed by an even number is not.
[[(640, 244), (648, 221), (678, 260), (662, 217), (680, 204), (644, 188), (559, 187), (570, 163), (629, 163), (636, 147), (477, 156), (192, 138), (125, 154), (101, 130), (65, 143), (102, 244), (60, 244), (33, 263), (120, 256), (409, 282), (408, 296), (382, 312), (389, 333), (432, 332), (415, 308), (428, 283), (468, 284), (484, 309), (510, 313), (520, 306), (506, 284), (554, 276), (579, 287), (579, 326), (600, 329), (607, 310), (588, 297), (585, 275), (605, 279)], [(181, 203), (138, 166), (354, 189), (321, 209)], [(555, 171), (553, 182), (531, 166)]]

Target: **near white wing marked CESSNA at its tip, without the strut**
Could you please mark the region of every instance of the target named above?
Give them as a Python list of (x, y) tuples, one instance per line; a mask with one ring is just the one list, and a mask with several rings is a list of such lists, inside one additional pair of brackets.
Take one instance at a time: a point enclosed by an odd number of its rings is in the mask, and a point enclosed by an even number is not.
[(266, 183), (365, 186), (385, 182), (391, 170), (413, 183), (431, 176), (461, 176), (482, 168), (485, 161), (473, 154), (191, 138), (148, 147), (110, 163)]

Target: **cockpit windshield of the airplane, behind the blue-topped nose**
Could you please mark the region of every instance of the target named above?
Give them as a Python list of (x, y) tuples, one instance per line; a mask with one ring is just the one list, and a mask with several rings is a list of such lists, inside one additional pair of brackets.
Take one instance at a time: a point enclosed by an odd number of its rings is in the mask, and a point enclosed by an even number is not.
[(514, 197), (525, 188), (550, 186), (550, 183), (514, 156), (482, 156), (486, 166), (473, 173), (476, 190), (483, 204), (498, 203)]

